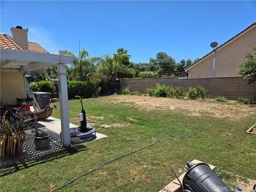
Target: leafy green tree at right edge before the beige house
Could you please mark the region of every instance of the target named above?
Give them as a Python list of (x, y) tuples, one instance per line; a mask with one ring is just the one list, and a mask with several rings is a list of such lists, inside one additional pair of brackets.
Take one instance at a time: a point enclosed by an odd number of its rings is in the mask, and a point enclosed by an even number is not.
[(238, 63), (240, 69), (237, 70), (238, 75), (244, 76), (247, 84), (256, 82), (256, 46), (252, 46), (253, 54), (245, 53), (244, 58), (247, 61)]

